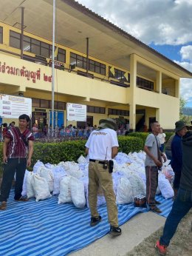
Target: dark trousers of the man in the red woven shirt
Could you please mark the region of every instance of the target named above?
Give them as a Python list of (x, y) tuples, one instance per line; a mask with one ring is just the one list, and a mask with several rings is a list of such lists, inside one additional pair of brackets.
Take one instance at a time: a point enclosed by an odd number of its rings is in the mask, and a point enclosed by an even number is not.
[(27, 167), (27, 158), (8, 158), (7, 164), (3, 165), (3, 180), (1, 183), (0, 201), (7, 202), (14, 175), (16, 173), (15, 200), (21, 198), (24, 182), (24, 172)]

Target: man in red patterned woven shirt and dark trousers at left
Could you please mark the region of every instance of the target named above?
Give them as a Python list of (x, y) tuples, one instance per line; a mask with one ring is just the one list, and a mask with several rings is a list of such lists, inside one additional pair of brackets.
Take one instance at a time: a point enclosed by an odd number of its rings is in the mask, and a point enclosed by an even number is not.
[(34, 137), (27, 125), (30, 122), (28, 115), (20, 115), (18, 127), (9, 129), (4, 136), (3, 144), (3, 180), (1, 183), (0, 210), (7, 208), (7, 198), (14, 175), (16, 173), (15, 197), (16, 201), (27, 201), (21, 197), (24, 173), (31, 164)]

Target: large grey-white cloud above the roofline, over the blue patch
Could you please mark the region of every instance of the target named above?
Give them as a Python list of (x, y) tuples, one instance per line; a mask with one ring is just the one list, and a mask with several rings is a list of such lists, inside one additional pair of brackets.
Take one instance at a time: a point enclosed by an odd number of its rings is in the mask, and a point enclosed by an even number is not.
[(145, 44), (188, 44), (192, 41), (192, 1), (78, 0)]

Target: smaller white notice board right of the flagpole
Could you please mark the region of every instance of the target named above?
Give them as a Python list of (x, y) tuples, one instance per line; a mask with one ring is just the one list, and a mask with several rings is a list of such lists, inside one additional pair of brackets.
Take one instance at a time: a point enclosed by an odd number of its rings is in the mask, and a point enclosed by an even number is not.
[(67, 121), (86, 122), (86, 105), (67, 103)]

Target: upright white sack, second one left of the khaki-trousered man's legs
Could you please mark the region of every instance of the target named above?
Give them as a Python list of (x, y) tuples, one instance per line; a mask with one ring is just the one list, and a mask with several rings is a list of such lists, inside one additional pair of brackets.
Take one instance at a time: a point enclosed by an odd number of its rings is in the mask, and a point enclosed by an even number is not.
[(72, 195), (70, 189), (70, 180), (72, 176), (66, 175), (60, 181), (60, 193), (58, 195), (58, 204), (72, 203)]

